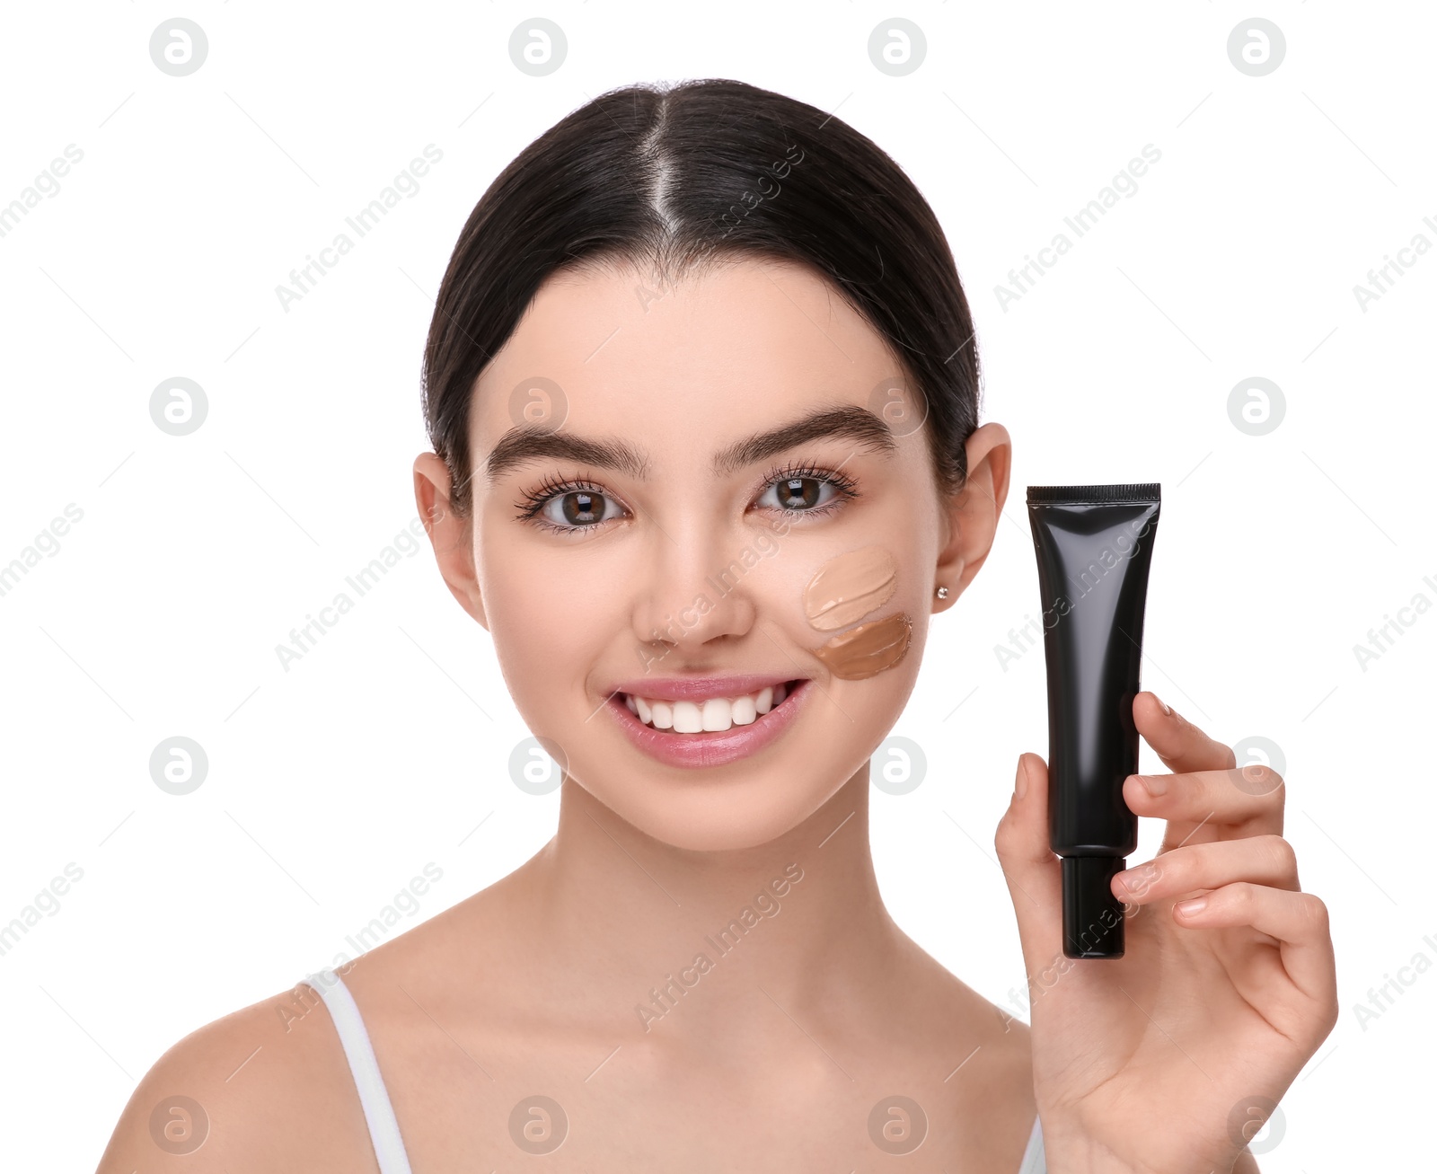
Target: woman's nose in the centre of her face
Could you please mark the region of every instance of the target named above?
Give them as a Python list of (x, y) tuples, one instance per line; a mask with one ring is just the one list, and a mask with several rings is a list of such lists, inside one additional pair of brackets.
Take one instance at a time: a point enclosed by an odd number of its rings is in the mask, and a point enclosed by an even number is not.
[(697, 661), (752, 631), (757, 608), (741, 546), (740, 536), (697, 522), (670, 523), (667, 533), (652, 527), (634, 592), (634, 635), (645, 660), (678, 652), (671, 664)]

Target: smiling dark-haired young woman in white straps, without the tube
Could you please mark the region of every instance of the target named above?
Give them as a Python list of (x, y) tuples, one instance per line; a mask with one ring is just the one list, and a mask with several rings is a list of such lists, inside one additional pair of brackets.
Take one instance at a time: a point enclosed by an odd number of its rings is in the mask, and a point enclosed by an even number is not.
[(1140, 694), (1163, 851), (1114, 882), (1127, 956), (1065, 961), (1019, 759), (1030, 1029), (879, 897), (868, 759), (1010, 468), (892, 160), (740, 82), (606, 93), (474, 208), (424, 375), (420, 513), (563, 766), (558, 832), (177, 1043), (102, 1171), (1256, 1170), (1336, 1019), (1272, 772)]

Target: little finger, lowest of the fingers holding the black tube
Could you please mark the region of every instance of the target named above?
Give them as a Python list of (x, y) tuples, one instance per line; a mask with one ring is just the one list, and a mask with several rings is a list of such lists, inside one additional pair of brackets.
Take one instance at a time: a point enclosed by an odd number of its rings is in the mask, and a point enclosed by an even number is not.
[(1335, 1003), (1336, 966), (1322, 898), (1237, 881), (1206, 897), (1178, 901), (1173, 920), (1193, 930), (1249, 925), (1275, 937), (1293, 986), (1312, 999)]

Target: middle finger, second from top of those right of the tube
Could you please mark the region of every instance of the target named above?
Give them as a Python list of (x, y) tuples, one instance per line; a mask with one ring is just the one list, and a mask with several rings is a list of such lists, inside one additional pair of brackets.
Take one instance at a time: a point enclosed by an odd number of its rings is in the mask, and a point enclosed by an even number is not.
[(1122, 800), (1134, 815), (1167, 819), (1164, 851), (1184, 842), (1204, 843), (1237, 835), (1280, 835), (1286, 787), (1270, 766), (1240, 772), (1196, 770), (1187, 775), (1129, 775)]

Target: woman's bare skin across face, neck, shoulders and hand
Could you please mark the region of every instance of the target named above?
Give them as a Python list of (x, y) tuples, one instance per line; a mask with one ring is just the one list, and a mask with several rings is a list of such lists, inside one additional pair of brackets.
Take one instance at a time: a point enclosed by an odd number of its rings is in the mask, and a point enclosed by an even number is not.
[[(563, 388), (563, 431), (641, 448), (647, 479), (549, 457), (490, 483), (480, 467), (474, 510), (461, 517), (443, 461), (415, 461), (444, 582), (490, 632), (519, 711), (559, 746), (568, 777), (545, 848), (343, 974), (414, 1168), (514, 1168), (527, 1155), (509, 1114), (535, 1092), (569, 1119), (563, 1145), (543, 1158), (553, 1170), (874, 1168), (890, 1158), (868, 1135), (869, 1112), (901, 1091), (927, 1114), (923, 1168), (1016, 1171), (1042, 1106), (1053, 1171), (1255, 1170), (1246, 1157), (1234, 1165), (1229, 1106), (1280, 1096), (1335, 1017), (1325, 920), (1275, 846), (1282, 789), (1224, 792), (1232, 752), (1140, 694), (1138, 730), (1178, 773), (1164, 776), (1161, 800), (1129, 780), (1128, 802), (1175, 821), (1174, 845), (1207, 819), (1165, 854), (1173, 868), (1147, 891), (1152, 912), (1129, 924), (1128, 957), (1035, 990), (1032, 1033), (964, 986), (884, 908), (868, 757), (911, 694), (928, 616), (989, 556), (1009, 489), (1007, 431), (987, 422), (969, 438), (969, 483), (953, 497), (934, 486), (923, 431), (887, 454), (810, 440), (716, 476), (713, 456), (754, 433), (816, 407), (867, 407), (895, 359), (798, 266), (694, 273), (647, 305), (638, 285), (624, 270), (546, 283), (477, 384), (471, 448), (483, 461), (516, 422), (510, 391), (543, 375)], [(823, 514), (783, 513), (769, 474), (790, 463), (841, 470), (861, 496)], [(616, 507), (578, 536), (519, 520), (514, 502), (552, 474), (582, 477)], [(819, 509), (832, 500), (823, 494)], [(559, 499), (546, 513), (563, 519)], [(776, 522), (789, 524), (772, 558), (727, 595), (706, 586)], [(891, 670), (839, 680), (812, 651), (823, 634), (808, 624), (803, 588), (829, 560), (879, 545), (897, 585), (869, 618), (907, 614), (912, 644)], [(703, 593), (713, 606), (664, 629)], [(658, 654), (661, 675), (775, 671), (815, 688), (757, 754), (675, 770), (635, 750), (601, 710), (612, 681), (641, 675)], [(1025, 754), (1020, 767), (1027, 787), (996, 845), (1033, 974), (1058, 940), (1058, 872), (1042, 759)], [(731, 954), (704, 944), (793, 864), (802, 879), (780, 912)], [(1170, 898), (1203, 888), (1216, 889), (1219, 911), (1175, 920)], [(1244, 902), (1257, 888), (1262, 901)], [(1300, 927), (1295, 911), (1308, 918)], [(1259, 930), (1244, 928), (1249, 912)], [(708, 973), (645, 1030), (635, 1004), (698, 951), (716, 958)], [(1184, 957), (1191, 973), (1175, 961)], [(1211, 1082), (1114, 997), (1118, 981), (1181, 1033)], [(200, 1150), (172, 1157), (148, 1119), (177, 1092), (204, 1105), (211, 1125)], [(328, 1010), (285, 992), (171, 1048), (101, 1163), (105, 1174), (137, 1168), (376, 1170)]]

